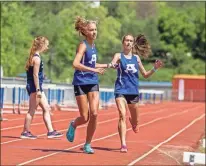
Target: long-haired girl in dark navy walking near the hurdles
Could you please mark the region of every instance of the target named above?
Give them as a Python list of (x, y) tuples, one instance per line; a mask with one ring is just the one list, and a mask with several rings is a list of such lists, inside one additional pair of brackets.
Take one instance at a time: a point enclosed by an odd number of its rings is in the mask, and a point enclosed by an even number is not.
[(44, 74), (43, 61), (41, 60), (40, 53), (46, 51), (48, 49), (48, 45), (49, 41), (46, 37), (39, 36), (35, 38), (31, 47), (29, 58), (26, 62), (26, 89), (29, 94), (29, 111), (26, 114), (23, 132), (20, 136), (22, 139), (37, 138), (31, 133), (30, 125), (38, 106), (40, 106), (43, 110), (43, 120), (48, 130), (47, 137), (56, 138), (63, 135), (62, 133), (54, 130), (52, 127), (50, 106), (42, 89)]

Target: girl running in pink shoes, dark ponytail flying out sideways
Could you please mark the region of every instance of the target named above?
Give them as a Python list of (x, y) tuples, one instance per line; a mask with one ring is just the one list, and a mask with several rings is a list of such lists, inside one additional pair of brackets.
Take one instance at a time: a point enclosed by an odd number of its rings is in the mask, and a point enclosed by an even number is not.
[(123, 51), (116, 53), (112, 60), (118, 64), (117, 79), (115, 82), (115, 100), (119, 111), (118, 131), (121, 141), (120, 152), (127, 152), (126, 146), (126, 110), (129, 108), (131, 118), (129, 121), (135, 133), (138, 127), (138, 102), (139, 102), (139, 71), (144, 78), (151, 76), (162, 66), (160, 60), (156, 60), (154, 67), (146, 71), (139, 56), (147, 57), (150, 53), (150, 45), (144, 35), (133, 37), (125, 35), (122, 39)]

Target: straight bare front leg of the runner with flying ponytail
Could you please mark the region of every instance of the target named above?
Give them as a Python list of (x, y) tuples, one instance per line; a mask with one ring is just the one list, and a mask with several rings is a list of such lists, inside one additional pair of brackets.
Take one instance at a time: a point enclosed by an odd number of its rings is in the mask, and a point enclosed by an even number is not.
[(116, 98), (116, 104), (119, 111), (118, 132), (120, 136), (121, 145), (126, 145), (126, 100), (123, 97)]

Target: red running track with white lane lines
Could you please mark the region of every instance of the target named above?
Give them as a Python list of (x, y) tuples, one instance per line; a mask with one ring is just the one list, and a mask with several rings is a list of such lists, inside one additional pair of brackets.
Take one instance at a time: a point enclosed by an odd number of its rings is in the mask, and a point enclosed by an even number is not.
[(68, 124), (78, 112), (54, 113), (53, 124), (64, 133), (60, 139), (47, 139), (41, 115), (34, 117), (31, 126), (38, 139), (20, 139), (24, 116), (4, 114), (8, 121), (1, 123), (2, 165), (181, 165), (182, 158), (177, 156), (185, 149), (180, 151), (180, 147), (194, 150), (204, 133), (205, 104), (169, 102), (140, 106), (140, 132), (133, 133), (127, 123), (128, 153), (119, 152), (116, 108), (99, 111), (93, 155), (84, 154), (81, 149), (86, 125), (77, 129), (74, 143), (65, 138)]

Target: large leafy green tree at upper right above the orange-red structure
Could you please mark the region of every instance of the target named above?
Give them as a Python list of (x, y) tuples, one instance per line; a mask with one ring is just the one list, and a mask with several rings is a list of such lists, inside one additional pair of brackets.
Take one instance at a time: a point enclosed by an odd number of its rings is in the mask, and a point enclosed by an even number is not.
[[(163, 49), (165, 52), (170, 53), (172, 66), (182, 68), (181, 65), (185, 62), (189, 62), (190, 66), (193, 66), (193, 62), (189, 61), (187, 56), (190, 53), (193, 57), (204, 58), (205, 30), (203, 28), (203, 9), (203, 6), (199, 6), (198, 10), (193, 6), (185, 6), (178, 11), (174, 7), (162, 6), (160, 8), (161, 15), (159, 16), (158, 29)], [(196, 69), (193, 68), (193, 70)], [(177, 71), (186, 72), (185, 70)], [(191, 72), (187, 70), (187, 73)]]

